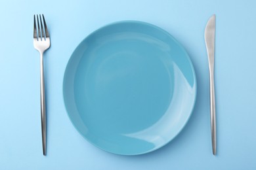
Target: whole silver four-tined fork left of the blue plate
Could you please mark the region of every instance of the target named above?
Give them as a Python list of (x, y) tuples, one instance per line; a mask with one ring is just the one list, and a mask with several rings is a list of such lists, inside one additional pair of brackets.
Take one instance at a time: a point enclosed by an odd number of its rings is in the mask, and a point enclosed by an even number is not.
[[(42, 23), (43, 18), (43, 23)], [(46, 111), (45, 111), (45, 77), (43, 73), (43, 53), (50, 47), (50, 36), (42, 14), (33, 16), (33, 46), (40, 53), (40, 94), (41, 94), (41, 131), (43, 155), (46, 155)], [(39, 24), (40, 20), (40, 24)]]

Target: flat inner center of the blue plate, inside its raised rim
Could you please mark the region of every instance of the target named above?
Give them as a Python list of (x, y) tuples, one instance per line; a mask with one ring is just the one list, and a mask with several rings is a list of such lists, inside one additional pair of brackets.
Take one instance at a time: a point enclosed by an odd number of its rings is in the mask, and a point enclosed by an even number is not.
[(139, 42), (140, 49), (136, 43), (127, 42), (129, 50), (111, 50), (120, 42), (108, 48), (100, 46), (100, 53), (89, 54), (95, 59), (85, 59), (87, 67), (82, 63), (78, 68), (84, 74), (77, 78), (75, 89), (80, 91), (75, 95), (85, 101), (78, 109), (89, 130), (134, 133), (158, 122), (169, 107), (173, 75), (161, 59), (166, 56), (159, 56), (161, 52), (154, 46), (141, 53), (141, 48), (148, 48), (147, 42)]

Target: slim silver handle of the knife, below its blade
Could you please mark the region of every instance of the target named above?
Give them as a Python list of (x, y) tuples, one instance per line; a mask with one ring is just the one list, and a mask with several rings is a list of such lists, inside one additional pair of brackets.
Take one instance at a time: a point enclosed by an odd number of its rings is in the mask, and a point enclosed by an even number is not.
[(211, 102), (211, 144), (213, 155), (216, 154), (216, 115), (215, 115), (215, 88), (213, 67), (210, 67), (210, 102)]

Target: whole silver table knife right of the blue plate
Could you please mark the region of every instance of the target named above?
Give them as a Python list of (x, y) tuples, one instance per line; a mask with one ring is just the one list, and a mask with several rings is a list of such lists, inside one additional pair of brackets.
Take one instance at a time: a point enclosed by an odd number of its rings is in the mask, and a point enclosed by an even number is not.
[(215, 116), (215, 90), (214, 90), (214, 55), (215, 55), (215, 14), (209, 18), (205, 27), (205, 45), (209, 61), (210, 75), (210, 101), (211, 101), (211, 143), (213, 155), (216, 154), (216, 116)]

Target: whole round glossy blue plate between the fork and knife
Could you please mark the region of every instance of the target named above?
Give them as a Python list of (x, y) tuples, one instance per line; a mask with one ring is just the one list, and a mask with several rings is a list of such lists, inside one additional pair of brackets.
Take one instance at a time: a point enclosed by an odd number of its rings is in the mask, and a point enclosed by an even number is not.
[(106, 25), (72, 54), (63, 93), (75, 128), (98, 148), (151, 152), (185, 126), (196, 100), (196, 75), (184, 48), (144, 22)]

